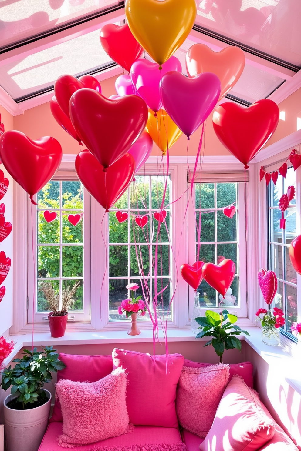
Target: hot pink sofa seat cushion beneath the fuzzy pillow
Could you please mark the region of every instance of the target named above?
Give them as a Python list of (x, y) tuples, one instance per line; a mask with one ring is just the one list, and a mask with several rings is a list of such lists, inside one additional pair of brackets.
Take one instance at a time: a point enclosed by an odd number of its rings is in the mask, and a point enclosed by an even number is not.
[[(57, 437), (62, 433), (63, 423), (50, 423), (39, 451), (62, 451)], [(76, 451), (187, 451), (178, 429), (136, 426), (134, 432), (108, 438), (92, 445), (78, 446)]]

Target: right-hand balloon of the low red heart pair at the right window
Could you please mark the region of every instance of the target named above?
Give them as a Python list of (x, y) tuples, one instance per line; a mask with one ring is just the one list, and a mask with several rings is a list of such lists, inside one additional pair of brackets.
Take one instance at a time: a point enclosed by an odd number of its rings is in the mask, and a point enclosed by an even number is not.
[(230, 288), (235, 276), (235, 263), (229, 258), (225, 258), (218, 265), (205, 263), (202, 268), (202, 274), (205, 281), (217, 290), (222, 296), (225, 296)]

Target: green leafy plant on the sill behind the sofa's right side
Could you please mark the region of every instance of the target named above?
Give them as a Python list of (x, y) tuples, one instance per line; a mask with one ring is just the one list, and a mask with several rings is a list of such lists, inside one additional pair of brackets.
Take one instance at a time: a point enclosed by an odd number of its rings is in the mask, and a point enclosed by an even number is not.
[(227, 310), (223, 310), (221, 313), (206, 310), (205, 315), (205, 317), (200, 316), (199, 318), (195, 318), (195, 321), (201, 326), (199, 329), (202, 329), (196, 338), (212, 336), (213, 338), (205, 346), (212, 345), (216, 354), (219, 356), (220, 363), (222, 363), (222, 356), (225, 349), (236, 348), (241, 351), (241, 341), (236, 335), (240, 335), (241, 333), (245, 335), (250, 334), (234, 325), (237, 321), (237, 316), (232, 315)]

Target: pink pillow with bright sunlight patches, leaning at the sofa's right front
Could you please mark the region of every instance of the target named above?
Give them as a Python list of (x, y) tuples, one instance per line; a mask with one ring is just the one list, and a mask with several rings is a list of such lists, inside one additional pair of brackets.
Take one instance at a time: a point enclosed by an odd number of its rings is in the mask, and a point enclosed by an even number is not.
[(274, 422), (264, 413), (257, 393), (240, 376), (233, 376), (199, 449), (256, 451), (273, 437), (274, 431)]

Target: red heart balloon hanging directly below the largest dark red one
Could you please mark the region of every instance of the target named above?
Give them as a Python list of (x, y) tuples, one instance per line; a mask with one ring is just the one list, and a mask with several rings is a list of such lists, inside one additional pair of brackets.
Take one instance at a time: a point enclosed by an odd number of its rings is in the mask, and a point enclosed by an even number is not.
[(84, 187), (108, 212), (133, 180), (135, 162), (126, 153), (104, 172), (92, 153), (82, 150), (75, 158), (75, 170)]

